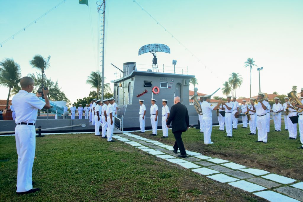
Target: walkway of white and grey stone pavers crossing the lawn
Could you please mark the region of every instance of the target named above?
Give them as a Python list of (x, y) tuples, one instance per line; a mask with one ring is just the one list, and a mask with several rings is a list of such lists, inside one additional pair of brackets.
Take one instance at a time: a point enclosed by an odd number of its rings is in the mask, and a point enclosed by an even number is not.
[[(148, 154), (178, 164), (212, 180), (227, 183), (272, 202), (303, 201), (303, 182), (254, 168), (247, 168), (223, 159), (187, 151), (188, 158), (178, 158), (171, 145), (149, 140), (131, 133), (113, 138), (141, 149)], [(180, 151), (178, 151), (180, 152)]]

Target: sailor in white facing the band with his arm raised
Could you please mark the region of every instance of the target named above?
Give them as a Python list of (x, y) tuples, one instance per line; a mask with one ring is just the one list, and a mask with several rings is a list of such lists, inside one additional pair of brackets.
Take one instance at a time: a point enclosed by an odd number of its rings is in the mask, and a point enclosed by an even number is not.
[(204, 96), (204, 102), (201, 104), (201, 109), (203, 111), (203, 126), (204, 126), (204, 144), (214, 144), (211, 141), (211, 131), (212, 131), (212, 113), (211, 110), (217, 110), (220, 107), (222, 101), (219, 101), (216, 106), (210, 103), (211, 95)]

